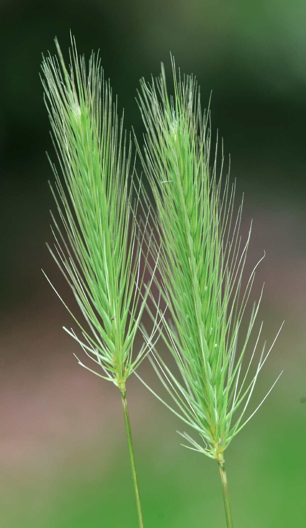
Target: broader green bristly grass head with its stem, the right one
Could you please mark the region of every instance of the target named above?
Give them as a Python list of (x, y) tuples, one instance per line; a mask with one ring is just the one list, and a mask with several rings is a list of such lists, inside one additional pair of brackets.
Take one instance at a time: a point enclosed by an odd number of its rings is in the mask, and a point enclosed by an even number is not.
[[(164, 403), (199, 435), (196, 441), (187, 432), (180, 433), (189, 444), (186, 447), (218, 462), (230, 527), (233, 522), (224, 451), (256, 412), (243, 420), (258, 373), (272, 347), (265, 356), (263, 347), (257, 370), (248, 379), (261, 325), (242, 374), (260, 303), (259, 299), (254, 305), (244, 343), (237, 352), (238, 330), (256, 268), (241, 294), (251, 229), (242, 246), (242, 206), (235, 216), (235, 186), (229, 187), (227, 177), (222, 187), (221, 176), (217, 178), (217, 152), (210, 169), (211, 136), (201, 112), (197, 83), (192, 77), (177, 81), (174, 62), (173, 77), (173, 98), (168, 96), (163, 66), (156, 84), (141, 81), (139, 95), (146, 136), (145, 154), (139, 146), (138, 152), (156, 209), (151, 214), (155, 243), (149, 246), (161, 277), (155, 284), (168, 307), (170, 322), (156, 307), (163, 319), (161, 337), (174, 356), (178, 372), (155, 346), (152, 364), (176, 408)], [(159, 395), (157, 398), (161, 400)]]

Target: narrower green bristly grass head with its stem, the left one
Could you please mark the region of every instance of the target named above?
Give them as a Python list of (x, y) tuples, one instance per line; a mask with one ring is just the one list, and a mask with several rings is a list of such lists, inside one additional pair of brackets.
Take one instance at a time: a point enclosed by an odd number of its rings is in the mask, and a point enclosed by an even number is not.
[[(43, 85), (53, 144), (67, 190), (52, 166), (57, 193), (52, 192), (63, 229), (52, 215), (55, 252), (49, 249), (84, 318), (81, 323), (59, 296), (81, 329), (82, 338), (65, 329), (100, 372), (78, 361), (113, 382), (121, 393), (142, 527), (126, 379), (148, 350), (148, 344), (144, 344), (133, 356), (134, 338), (150, 284), (142, 296), (146, 256), (142, 266), (142, 240), (136, 234), (137, 204), (132, 212), (132, 186), (128, 183), (129, 173), (133, 172), (131, 139), (126, 143), (123, 138), (123, 120), (118, 123), (116, 105), (113, 107), (112, 92), (104, 82), (99, 59), (92, 54), (87, 73), (85, 61), (78, 58), (72, 43), (68, 71), (56, 39), (55, 44), (60, 63), (51, 56), (43, 59)], [(152, 337), (155, 331), (156, 324)]]

